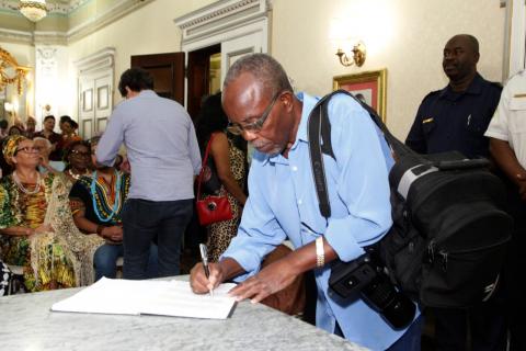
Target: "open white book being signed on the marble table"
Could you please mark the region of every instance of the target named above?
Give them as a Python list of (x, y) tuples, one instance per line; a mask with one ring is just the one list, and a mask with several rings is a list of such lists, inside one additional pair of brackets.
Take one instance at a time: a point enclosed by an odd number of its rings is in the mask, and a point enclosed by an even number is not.
[(184, 281), (129, 281), (103, 278), (52, 306), (55, 312), (116, 315), (163, 315), (226, 319), (236, 302), (227, 295), (236, 284), (221, 284), (209, 294), (194, 294)]

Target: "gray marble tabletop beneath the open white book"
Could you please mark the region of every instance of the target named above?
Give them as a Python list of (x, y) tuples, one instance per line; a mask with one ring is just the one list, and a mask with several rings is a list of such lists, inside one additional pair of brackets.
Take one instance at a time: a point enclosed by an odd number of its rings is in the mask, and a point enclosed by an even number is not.
[(366, 350), (261, 304), (227, 320), (52, 313), (68, 288), (0, 297), (2, 350)]

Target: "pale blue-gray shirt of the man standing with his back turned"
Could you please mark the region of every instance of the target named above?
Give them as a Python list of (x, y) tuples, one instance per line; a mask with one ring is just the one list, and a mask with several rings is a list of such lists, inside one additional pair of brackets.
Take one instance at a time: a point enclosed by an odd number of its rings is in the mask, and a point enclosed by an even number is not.
[(123, 143), (132, 166), (128, 199), (194, 197), (193, 182), (201, 170), (201, 154), (194, 125), (183, 106), (151, 90), (122, 102), (99, 141), (99, 162), (112, 166)]

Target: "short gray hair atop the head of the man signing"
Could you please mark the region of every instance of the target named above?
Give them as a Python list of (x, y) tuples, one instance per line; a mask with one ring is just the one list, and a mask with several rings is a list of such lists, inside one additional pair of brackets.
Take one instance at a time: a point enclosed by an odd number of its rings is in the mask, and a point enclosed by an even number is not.
[(294, 91), (285, 69), (267, 54), (247, 55), (233, 63), (225, 77), (222, 89), (244, 72), (252, 75), (271, 95), (285, 90)]

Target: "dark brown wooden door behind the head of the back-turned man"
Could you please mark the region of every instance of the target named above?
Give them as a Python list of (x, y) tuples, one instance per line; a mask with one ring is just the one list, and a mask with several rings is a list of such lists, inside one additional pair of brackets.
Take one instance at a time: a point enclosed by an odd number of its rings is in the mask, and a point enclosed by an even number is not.
[(184, 53), (135, 55), (132, 67), (140, 67), (153, 76), (153, 90), (160, 97), (184, 105)]

